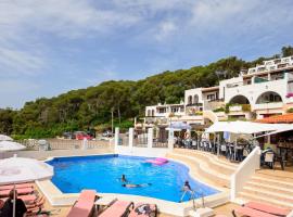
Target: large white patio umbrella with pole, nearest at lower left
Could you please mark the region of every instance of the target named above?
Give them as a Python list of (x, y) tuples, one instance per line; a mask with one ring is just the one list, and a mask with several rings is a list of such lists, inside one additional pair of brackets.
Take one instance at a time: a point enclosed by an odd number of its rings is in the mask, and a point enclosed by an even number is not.
[[(53, 167), (33, 158), (11, 157), (0, 161), (0, 184), (49, 179), (53, 176)], [(15, 197), (13, 200), (13, 217), (15, 217)]]

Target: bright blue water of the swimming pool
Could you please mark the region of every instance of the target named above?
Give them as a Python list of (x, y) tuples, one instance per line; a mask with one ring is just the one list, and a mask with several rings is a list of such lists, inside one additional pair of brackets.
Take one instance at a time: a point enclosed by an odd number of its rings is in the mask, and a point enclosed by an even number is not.
[[(189, 176), (182, 164), (168, 162), (156, 166), (144, 163), (146, 157), (124, 155), (98, 155), (82, 157), (59, 157), (48, 163), (54, 167), (53, 183), (63, 193), (77, 193), (82, 189), (95, 189), (101, 193), (123, 193), (151, 196), (179, 202), (181, 187), (188, 180), (195, 196), (215, 194), (212, 189)], [(119, 177), (125, 174), (131, 183), (151, 183), (143, 188), (122, 187)], [(186, 196), (183, 201), (188, 201)]]

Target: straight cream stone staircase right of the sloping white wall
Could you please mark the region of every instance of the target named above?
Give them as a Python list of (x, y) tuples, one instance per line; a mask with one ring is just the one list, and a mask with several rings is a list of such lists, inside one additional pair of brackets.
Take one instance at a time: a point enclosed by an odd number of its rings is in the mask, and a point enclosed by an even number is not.
[(258, 201), (293, 209), (293, 173), (258, 170), (239, 193), (238, 201)]

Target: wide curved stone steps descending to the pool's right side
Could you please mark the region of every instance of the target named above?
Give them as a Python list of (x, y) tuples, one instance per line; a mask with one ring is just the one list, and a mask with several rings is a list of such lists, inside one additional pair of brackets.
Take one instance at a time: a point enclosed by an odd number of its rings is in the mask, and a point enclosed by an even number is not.
[(230, 187), (230, 176), (237, 168), (237, 164), (196, 150), (175, 149), (167, 157), (186, 163), (200, 178), (224, 188)]

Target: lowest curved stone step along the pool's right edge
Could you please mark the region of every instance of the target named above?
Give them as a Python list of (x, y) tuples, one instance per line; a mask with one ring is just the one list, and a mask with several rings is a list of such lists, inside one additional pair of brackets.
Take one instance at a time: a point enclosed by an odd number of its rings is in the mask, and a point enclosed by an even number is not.
[(206, 161), (203, 161), (194, 156), (188, 156), (187, 154), (183, 155), (175, 153), (168, 154), (167, 157), (184, 162), (189, 167), (196, 167), (196, 170), (200, 174), (200, 176), (203, 176), (211, 182), (214, 182), (216, 186), (227, 188), (230, 187), (230, 177), (208, 167)]

